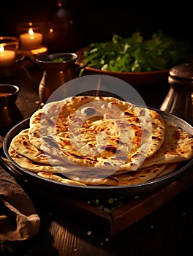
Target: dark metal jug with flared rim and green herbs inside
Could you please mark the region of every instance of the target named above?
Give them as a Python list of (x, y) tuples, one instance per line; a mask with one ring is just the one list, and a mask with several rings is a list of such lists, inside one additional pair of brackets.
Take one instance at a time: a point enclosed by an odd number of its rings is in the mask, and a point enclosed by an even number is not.
[[(67, 81), (77, 78), (75, 53), (54, 53), (37, 57), (36, 61), (43, 69), (42, 79), (39, 83), (39, 99), (47, 102), (51, 94)], [(65, 97), (61, 95), (61, 98)]]

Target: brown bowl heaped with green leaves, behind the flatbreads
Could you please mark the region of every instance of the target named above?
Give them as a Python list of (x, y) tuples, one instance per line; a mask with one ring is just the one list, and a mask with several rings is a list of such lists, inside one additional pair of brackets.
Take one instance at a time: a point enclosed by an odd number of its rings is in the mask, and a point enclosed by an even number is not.
[(169, 70), (189, 58), (191, 44), (176, 41), (159, 31), (150, 39), (140, 32), (123, 38), (117, 34), (109, 42), (93, 42), (77, 50), (81, 75), (111, 75), (132, 86), (162, 83)]

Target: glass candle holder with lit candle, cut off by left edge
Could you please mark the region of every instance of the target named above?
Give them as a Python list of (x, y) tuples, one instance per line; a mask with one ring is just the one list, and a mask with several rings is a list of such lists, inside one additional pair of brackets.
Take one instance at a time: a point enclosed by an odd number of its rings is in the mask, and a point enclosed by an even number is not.
[(12, 75), (18, 58), (19, 39), (0, 37), (0, 76)]

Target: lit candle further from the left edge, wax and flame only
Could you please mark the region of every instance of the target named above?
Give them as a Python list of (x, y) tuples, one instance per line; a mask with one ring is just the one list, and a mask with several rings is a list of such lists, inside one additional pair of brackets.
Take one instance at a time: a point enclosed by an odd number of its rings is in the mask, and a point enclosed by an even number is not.
[(23, 49), (31, 50), (42, 47), (43, 35), (29, 29), (28, 33), (20, 34), (20, 44)]

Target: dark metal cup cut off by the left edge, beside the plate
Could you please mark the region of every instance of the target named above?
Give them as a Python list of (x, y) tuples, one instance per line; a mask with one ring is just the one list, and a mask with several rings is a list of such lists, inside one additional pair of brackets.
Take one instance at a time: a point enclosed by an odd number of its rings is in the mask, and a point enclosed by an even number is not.
[(10, 84), (0, 84), (0, 133), (6, 133), (23, 120), (23, 116), (15, 101), (19, 87)]

